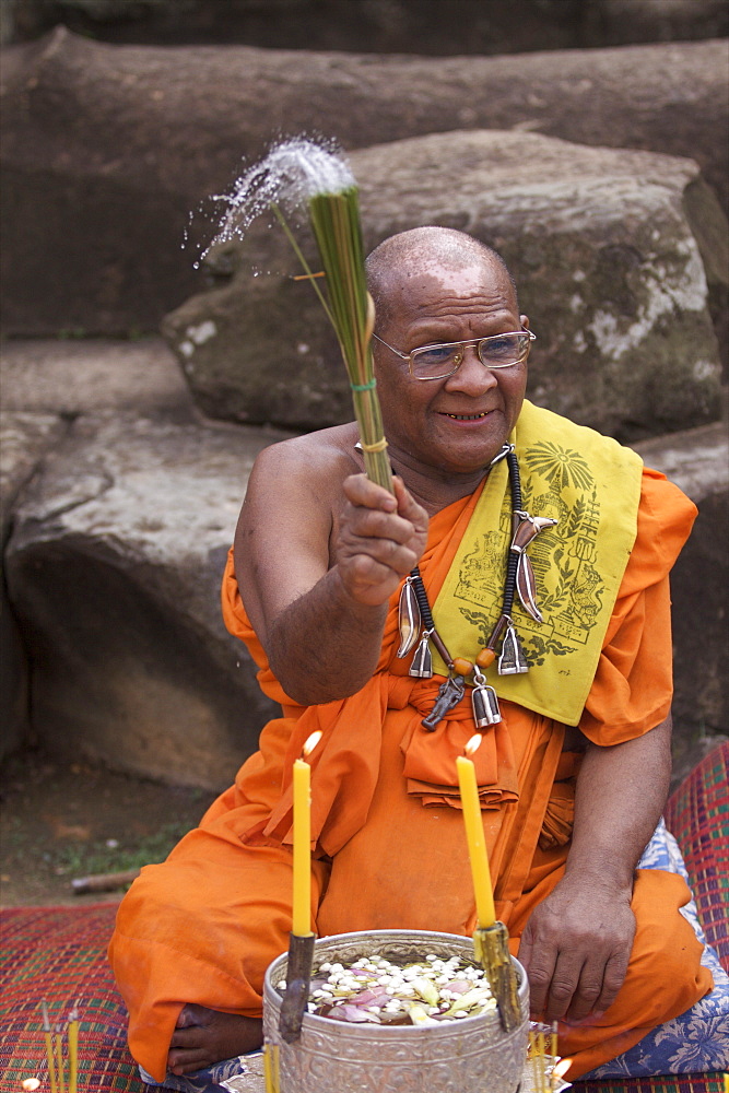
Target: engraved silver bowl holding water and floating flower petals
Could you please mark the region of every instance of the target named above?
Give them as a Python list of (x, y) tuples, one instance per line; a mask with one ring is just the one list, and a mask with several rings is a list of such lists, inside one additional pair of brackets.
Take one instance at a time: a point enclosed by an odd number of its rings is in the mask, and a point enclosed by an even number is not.
[[(314, 967), (326, 961), (352, 963), (361, 956), (416, 961), (427, 953), (473, 960), (473, 941), (427, 930), (338, 933), (315, 944)], [(266, 973), (263, 1033), (277, 1045), (281, 1093), (515, 1093), (527, 1054), (529, 985), (518, 961), (521, 1024), (506, 1034), (498, 1013), (437, 1025), (348, 1024), (304, 1014), (302, 1035), (285, 1044), (279, 1033), (287, 956)]]

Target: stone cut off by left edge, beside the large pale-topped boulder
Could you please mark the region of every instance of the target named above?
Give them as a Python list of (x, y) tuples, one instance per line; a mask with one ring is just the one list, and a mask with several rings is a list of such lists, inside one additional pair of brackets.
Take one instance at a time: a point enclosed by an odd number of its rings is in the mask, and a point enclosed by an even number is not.
[[(3, 552), (15, 500), (66, 427), (58, 414), (0, 411), (0, 548)], [(3, 759), (20, 745), (28, 730), (27, 653), (8, 600), (4, 566), (0, 568), (0, 759)]]

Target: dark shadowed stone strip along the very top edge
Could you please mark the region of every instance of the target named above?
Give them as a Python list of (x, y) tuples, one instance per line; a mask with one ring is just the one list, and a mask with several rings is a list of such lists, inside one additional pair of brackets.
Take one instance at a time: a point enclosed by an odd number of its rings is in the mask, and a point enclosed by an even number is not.
[(718, 38), (724, 0), (2, 0), (2, 42), (56, 23), (105, 42), (514, 54)]

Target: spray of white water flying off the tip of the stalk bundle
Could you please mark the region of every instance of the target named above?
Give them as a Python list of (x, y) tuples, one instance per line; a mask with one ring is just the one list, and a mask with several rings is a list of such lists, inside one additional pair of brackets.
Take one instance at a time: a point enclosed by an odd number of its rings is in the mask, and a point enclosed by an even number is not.
[(251, 223), (270, 213), (273, 205), (292, 215), (319, 193), (341, 193), (354, 186), (354, 175), (334, 141), (305, 137), (282, 141), (249, 167), (231, 192), (213, 196), (212, 200), (222, 203), (225, 211), (200, 261), (214, 246), (243, 239)]

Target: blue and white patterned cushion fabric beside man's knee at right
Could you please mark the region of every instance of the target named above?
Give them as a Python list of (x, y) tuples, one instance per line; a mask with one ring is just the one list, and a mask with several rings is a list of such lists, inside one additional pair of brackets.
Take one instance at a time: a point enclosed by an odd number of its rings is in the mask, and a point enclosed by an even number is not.
[[(679, 845), (662, 820), (644, 850), (638, 868), (680, 873), (691, 884)], [(704, 945), (702, 964), (714, 976), (714, 989), (685, 1013), (658, 1025), (624, 1055), (585, 1074), (585, 1079), (729, 1070), (729, 976), (714, 949), (706, 943), (693, 898), (681, 914), (691, 922)]]

